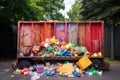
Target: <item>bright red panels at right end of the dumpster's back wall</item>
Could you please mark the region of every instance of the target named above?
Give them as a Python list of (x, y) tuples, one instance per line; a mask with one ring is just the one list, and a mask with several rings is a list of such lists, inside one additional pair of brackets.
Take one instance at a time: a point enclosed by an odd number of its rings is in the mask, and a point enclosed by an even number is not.
[(85, 23), (85, 46), (91, 53), (103, 52), (103, 21), (88, 21)]

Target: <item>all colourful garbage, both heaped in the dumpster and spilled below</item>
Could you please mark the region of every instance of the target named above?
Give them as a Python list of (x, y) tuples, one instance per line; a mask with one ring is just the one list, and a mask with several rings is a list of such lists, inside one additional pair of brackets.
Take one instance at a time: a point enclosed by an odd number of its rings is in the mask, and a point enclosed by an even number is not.
[[(26, 56), (20, 52), (20, 56)], [(83, 75), (102, 75), (102, 70), (90, 67), (92, 61), (89, 57), (102, 57), (102, 53), (90, 53), (86, 47), (78, 46), (74, 43), (66, 43), (62, 39), (55, 37), (46, 39), (40, 45), (35, 45), (31, 49), (29, 56), (57, 57), (57, 56), (81, 56), (76, 62), (56, 62), (32, 65), (29, 68), (16, 69), (15, 73), (30, 76), (31, 80), (39, 79), (41, 76), (54, 76), (58, 74), (62, 77), (81, 77)]]

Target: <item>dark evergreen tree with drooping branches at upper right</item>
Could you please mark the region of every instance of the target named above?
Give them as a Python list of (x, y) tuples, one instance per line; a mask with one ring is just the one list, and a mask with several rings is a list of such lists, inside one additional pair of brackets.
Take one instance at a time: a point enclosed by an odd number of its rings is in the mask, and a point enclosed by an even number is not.
[(84, 20), (104, 20), (109, 25), (120, 25), (119, 0), (82, 0), (82, 4)]

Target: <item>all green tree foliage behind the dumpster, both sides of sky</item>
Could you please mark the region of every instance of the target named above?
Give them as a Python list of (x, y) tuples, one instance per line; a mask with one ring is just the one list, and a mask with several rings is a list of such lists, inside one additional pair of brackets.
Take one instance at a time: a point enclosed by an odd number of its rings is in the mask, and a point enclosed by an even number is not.
[[(16, 24), (19, 20), (64, 20), (60, 9), (64, 0), (0, 0), (0, 22)], [(75, 0), (67, 12), (69, 21), (104, 20), (108, 25), (120, 24), (119, 0)]]

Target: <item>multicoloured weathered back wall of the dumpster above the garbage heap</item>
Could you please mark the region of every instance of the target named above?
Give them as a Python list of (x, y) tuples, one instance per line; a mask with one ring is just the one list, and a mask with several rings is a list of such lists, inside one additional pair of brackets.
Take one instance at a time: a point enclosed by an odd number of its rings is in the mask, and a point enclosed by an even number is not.
[(33, 45), (40, 45), (46, 38), (55, 36), (66, 42), (85, 46), (91, 53), (104, 51), (103, 21), (20, 21), (18, 23), (18, 51), (29, 51)]

